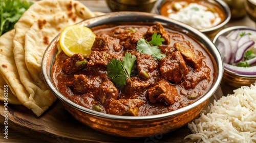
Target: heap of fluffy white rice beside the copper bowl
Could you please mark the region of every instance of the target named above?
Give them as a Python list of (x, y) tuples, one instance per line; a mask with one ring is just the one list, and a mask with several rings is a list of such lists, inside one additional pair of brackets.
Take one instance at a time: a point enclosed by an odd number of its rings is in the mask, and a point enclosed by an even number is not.
[[(255, 83), (256, 84), (256, 83)], [(242, 86), (188, 124), (197, 142), (256, 142), (256, 85)]]

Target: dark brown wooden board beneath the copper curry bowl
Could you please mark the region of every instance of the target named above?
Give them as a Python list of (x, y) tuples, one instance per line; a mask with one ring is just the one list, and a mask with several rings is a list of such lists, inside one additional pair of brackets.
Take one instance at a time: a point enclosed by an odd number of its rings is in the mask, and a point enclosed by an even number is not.
[[(210, 98), (223, 96), (221, 88)], [(208, 105), (209, 105), (208, 103)], [(0, 103), (0, 121), (4, 121), (4, 104)], [(36, 117), (24, 106), (8, 105), (8, 127), (49, 142), (189, 142), (184, 137), (190, 134), (187, 125), (182, 128), (164, 134), (148, 138), (130, 139), (106, 135), (82, 125), (71, 114), (69, 114), (59, 101), (42, 116)], [(4, 122), (1, 122), (4, 124)]]

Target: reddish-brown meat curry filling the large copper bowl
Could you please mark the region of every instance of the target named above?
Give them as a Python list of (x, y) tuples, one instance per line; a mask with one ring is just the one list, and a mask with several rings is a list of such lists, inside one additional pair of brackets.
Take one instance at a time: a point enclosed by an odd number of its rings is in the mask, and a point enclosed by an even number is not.
[[(92, 31), (96, 38), (90, 55), (60, 52), (52, 68), (55, 86), (76, 104), (114, 115), (154, 115), (194, 103), (212, 85), (215, 69), (208, 52), (183, 33), (158, 22), (103, 25)], [(157, 46), (161, 58), (138, 50), (138, 41), (147, 43), (155, 33), (163, 39)], [(108, 65), (127, 53), (136, 60), (130, 78), (118, 86)]]

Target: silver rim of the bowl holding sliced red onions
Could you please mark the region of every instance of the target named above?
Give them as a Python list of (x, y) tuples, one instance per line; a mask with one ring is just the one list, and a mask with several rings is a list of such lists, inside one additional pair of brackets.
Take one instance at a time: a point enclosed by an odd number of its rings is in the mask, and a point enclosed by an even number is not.
[[(247, 27), (247, 26), (233, 26), (233, 27), (228, 27), (228, 28), (225, 28), (221, 31), (219, 31), (214, 39), (212, 40), (213, 43), (216, 42), (216, 40), (219, 38), (220, 35), (227, 35), (229, 32), (233, 31), (233, 30), (237, 30), (237, 29), (247, 29), (247, 30), (253, 30), (256, 32), (256, 28), (251, 28), (251, 27)], [(233, 71), (230, 71), (228, 69), (226, 69), (224, 67), (224, 71), (226, 71), (227, 73), (229, 74), (232, 74), (232, 75), (235, 75), (237, 77), (241, 77), (241, 78), (256, 78), (256, 75), (242, 75), (242, 74), (238, 74), (238, 73), (235, 73)]]

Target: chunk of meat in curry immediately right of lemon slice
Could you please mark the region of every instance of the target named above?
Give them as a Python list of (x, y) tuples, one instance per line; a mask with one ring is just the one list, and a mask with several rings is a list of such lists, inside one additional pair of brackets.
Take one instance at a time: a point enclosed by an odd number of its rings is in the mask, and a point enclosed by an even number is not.
[(92, 51), (114, 51), (119, 52), (122, 50), (122, 45), (108, 37), (98, 37), (96, 36), (93, 46), (91, 48)]

